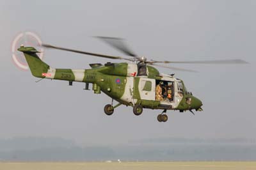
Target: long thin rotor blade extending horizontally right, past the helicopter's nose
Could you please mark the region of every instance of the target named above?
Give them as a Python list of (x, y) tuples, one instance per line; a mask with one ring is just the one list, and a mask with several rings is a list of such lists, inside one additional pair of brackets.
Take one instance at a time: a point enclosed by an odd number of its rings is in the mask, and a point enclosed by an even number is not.
[(204, 61), (152, 61), (152, 63), (182, 63), (182, 64), (248, 64), (242, 59), (222, 59), (222, 60), (204, 60)]

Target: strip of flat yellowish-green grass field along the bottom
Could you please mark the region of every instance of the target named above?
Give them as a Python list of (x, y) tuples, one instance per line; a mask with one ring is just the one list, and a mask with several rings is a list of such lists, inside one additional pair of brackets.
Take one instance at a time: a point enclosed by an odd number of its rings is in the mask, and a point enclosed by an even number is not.
[(1, 170), (255, 170), (256, 162), (0, 162)]

